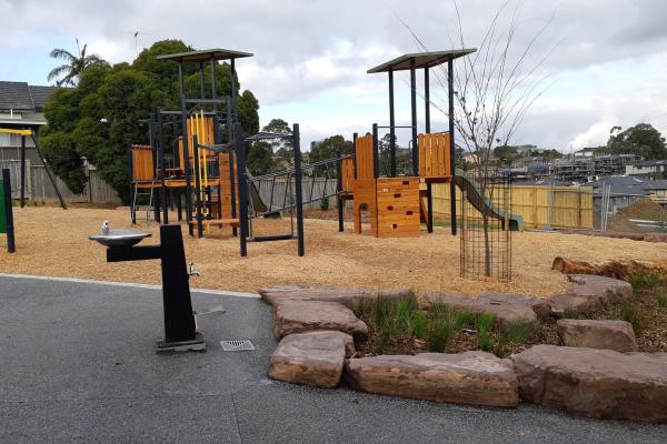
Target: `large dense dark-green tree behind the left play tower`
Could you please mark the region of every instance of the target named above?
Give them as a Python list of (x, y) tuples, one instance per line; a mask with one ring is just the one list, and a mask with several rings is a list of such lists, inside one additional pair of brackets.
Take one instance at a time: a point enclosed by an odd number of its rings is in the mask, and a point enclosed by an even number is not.
[[(84, 47), (86, 48), (86, 47)], [(44, 105), (49, 124), (42, 132), (44, 154), (54, 172), (73, 192), (86, 184), (81, 158), (94, 164), (101, 176), (112, 185), (121, 199), (129, 198), (127, 149), (129, 143), (148, 143), (146, 125), (157, 107), (180, 109), (178, 65), (158, 60), (158, 54), (189, 51), (192, 48), (179, 40), (163, 40), (145, 49), (130, 63), (113, 67), (98, 60), (78, 74), (78, 85), (58, 90)], [(199, 97), (199, 67), (186, 63), (185, 87), (189, 97)], [(205, 67), (205, 81), (209, 79)], [(226, 63), (216, 65), (216, 92), (219, 98), (231, 92), (231, 69)], [(240, 91), (235, 79), (237, 91)], [(211, 97), (211, 91), (205, 91)], [(250, 91), (237, 98), (239, 120), (246, 134), (259, 127), (259, 102)]]

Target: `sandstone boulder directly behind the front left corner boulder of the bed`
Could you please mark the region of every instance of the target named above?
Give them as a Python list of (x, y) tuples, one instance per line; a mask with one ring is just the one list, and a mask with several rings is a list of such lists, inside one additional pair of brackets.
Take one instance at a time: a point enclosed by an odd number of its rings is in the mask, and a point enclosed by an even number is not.
[(338, 302), (282, 301), (273, 304), (273, 334), (281, 339), (292, 333), (335, 330), (364, 337), (368, 326)]

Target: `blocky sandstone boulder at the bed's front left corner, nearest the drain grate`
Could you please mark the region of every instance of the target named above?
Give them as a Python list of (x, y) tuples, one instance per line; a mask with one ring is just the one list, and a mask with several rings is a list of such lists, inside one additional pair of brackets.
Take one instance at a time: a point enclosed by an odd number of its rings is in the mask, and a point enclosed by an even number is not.
[(269, 377), (293, 384), (335, 387), (340, 381), (346, 340), (340, 332), (310, 332), (285, 336), (271, 356)]

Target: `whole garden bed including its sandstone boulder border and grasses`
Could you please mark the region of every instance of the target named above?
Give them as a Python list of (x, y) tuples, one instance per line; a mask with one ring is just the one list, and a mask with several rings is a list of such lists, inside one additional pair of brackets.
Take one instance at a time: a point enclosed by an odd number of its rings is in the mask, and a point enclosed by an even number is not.
[(629, 275), (633, 285), (568, 276), (576, 285), (546, 300), (262, 289), (280, 340), (268, 374), (379, 395), (509, 408), (524, 401), (667, 423), (667, 353), (655, 353), (667, 352), (661, 276)]

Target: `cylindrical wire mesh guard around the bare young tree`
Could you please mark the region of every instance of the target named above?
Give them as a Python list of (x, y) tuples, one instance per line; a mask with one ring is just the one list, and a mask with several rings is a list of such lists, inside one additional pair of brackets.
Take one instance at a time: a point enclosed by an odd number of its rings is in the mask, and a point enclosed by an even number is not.
[(511, 179), (462, 181), (460, 273), (474, 280), (511, 280)]

